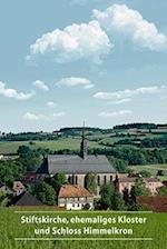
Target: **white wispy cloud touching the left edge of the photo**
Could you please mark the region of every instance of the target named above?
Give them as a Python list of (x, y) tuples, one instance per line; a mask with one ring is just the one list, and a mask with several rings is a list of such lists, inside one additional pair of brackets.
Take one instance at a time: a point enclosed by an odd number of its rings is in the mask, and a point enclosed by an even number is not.
[(7, 88), (6, 83), (0, 81), (0, 94), (16, 100), (28, 100), (35, 94), (35, 92), (33, 91), (29, 93), (18, 92), (16, 89)]

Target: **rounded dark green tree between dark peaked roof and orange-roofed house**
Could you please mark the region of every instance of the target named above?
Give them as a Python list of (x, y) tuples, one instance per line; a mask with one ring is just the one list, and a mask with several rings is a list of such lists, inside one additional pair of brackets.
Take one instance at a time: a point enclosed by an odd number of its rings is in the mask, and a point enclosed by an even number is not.
[(45, 181), (36, 186), (35, 193), (43, 205), (51, 206), (56, 203), (56, 191)]

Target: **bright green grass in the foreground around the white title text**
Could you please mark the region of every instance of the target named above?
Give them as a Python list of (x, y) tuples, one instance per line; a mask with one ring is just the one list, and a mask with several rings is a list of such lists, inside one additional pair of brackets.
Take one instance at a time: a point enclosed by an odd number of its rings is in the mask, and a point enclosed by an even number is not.
[[(58, 211), (55, 213), (37, 213), (37, 208), (26, 210), (28, 212), (26, 213), (14, 213), (16, 208), (9, 208), (9, 209), (0, 209), (0, 248), (1, 249), (166, 249), (167, 248), (167, 237), (166, 237), (166, 227), (167, 227), (167, 213), (115, 213), (115, 212), (62, 212)], [(23, 209), (21, 209), (23, 210)], [(38, 208), (40, 211), (46, 210), (55, 210), (49, 208)], [(29, 212), (31, 211), (31, 213)], [(33, 211), (33, 212), (32, 212)], [(92, 227), (95, 228), (111, 228), (116, 226), (117, 228), (127, 228), (132, 229), (132, 235), (82, 235), (82, 236), (73, 236), (73, 235), (66, 235), (66, 236), (55, 236), (55, 235), (35, 235), (35, 228), (48, 228), (48, 225), (22, 225), (20, 222), (21, 216), (49, 216), (49, 217), (66, 217), (67, 219), (70, 219), (71, 217), (75, 217), (76, 215), (78, 217), (96, 217), (96, 216), (102, 216), (104, 218), (112, 218), (118, 216), (127, 216), (129, 218), (132, 217), (141, 217), (147, 218), (147, 222), (145, 225), (143, 223), (135, 223), (135, 225), (67, 225), (63, 227), (69, 227), (73, 229), (82, 229), (84, 226), (86, 227)], [(56, 226), (58, 228), (62, 227), (62, 225), (49, 225), (49, 226)], [(14, 238), (36, 238), (36, 239), (46, 239), (46, 238), (52, 238), (52, 239), (61, 239), (61, 240), (55, 240), (55, 241), (16, 241)], [(66, 238), (70, 238), (71, 240), (65, 240)], [(73, 238), (78, 238), (78, 241), (72, 240)], [(86, 240), (86, 239), (87, 240)], [(95, 239), (89, 240), (90, 238)], [(105, 240), (108, 238), (117, 239), (118, 241), (109, 241)], [(129, 241), (120, 241), (119, 239), (129, 239)], [(145, 241), (145, 240), (134, 240), (134, 238), (150, 238), (153, 240)], [(82, 240), (80, 240), (82, 239)], [(99, 241), (101, 239), (101, 241)], [(86, 241), (85, 241), (86, 240)]]

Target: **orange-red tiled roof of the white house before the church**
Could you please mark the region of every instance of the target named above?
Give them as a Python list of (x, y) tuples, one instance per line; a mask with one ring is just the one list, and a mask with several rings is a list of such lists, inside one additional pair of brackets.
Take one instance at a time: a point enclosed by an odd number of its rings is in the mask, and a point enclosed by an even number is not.
[(81, 186), (65, 185), (60, 188), (59, 198), (91, 197), (92, 195)]

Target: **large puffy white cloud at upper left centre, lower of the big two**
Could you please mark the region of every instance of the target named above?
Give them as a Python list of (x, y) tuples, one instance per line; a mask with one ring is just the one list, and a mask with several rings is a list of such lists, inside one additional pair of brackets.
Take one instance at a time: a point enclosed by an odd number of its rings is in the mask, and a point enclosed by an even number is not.
[(78, 59), (91, 58), (96, 63), (101, 62), (101, 56), (109, 53), (114, 44), (98, 21), (71, 24), (63, 30), (56, 29), (45, 33), (30, 46), (28, 60), (37, 56), (53, 58), (57, 63), (66, 63)]

